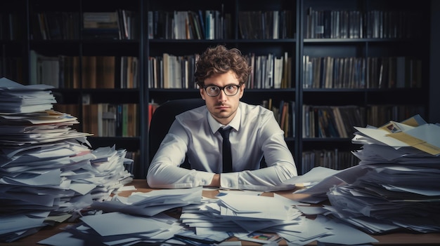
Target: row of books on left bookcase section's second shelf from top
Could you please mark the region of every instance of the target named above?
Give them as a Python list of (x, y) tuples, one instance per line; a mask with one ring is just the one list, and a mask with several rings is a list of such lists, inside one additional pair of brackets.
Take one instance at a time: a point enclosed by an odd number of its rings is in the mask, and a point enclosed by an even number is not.
[(55, 88), (138, 88), (137, 57), (48, 57), (31, 50), (30, 64), (31, 84), (44, 83)]

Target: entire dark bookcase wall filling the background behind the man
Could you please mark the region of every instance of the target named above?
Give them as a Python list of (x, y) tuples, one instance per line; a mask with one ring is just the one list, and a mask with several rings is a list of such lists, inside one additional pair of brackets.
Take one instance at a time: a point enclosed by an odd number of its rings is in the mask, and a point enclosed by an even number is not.
[[(356, 148), (347, 123), (379, 126), (413, 114), (429, 120), (430, 5), (17, 0), (0, 4), (0, 73), (25, 84), (53, 83), (58, 109), (79, 116), (78, 130), (96, 131), (93, 147), (138, 153), (134, 174), (143, 178), (148, 105), (199, 97), (192, 78), (197, 55), (219, 43), (239, 48), (254, 67), (242, 100), (271, 105), (280, 119), (287, 110), (280, 125), (302, 173), (338, 160), (356, 163), (347, 157)], [(108, 134), (98, 127), (117, 121), (116, 114), (97, 117), (113, 107), (137, 112), (126, 118), (134, 130)], [(356, 117), (330, 126), (325, 119), (332, 117), (323, 117), (347, 111)]]

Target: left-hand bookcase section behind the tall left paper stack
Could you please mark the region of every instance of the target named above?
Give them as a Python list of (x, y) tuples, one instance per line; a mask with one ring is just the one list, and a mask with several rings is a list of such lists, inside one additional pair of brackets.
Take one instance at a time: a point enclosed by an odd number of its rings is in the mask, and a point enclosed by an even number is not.
[[(19, 0), (7, 5), (2, 16), (20, 16), (9, 27), (22, 33), (1, 40), (6, 50), (1, 60), (15, 55), (22, 64), (8, 62), (2, 75), (54, 86), (54, 108), (79, 118), (75, 128), (93, 133), (88, 137), (93, 149), (115, 145), (143, 163), (142, 1)], [(15, 70), (23, 72), (9, 72)], [(134, 168), (135, 174), (142, 172), (140, 164)]]

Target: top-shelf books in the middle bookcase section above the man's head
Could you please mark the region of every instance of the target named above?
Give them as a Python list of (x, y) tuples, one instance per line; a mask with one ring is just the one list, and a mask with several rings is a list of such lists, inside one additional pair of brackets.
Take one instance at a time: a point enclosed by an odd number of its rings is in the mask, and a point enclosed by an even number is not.
[[(242, 39), (294, 38), (292, 11), (240, 11)], [(149, 11), (149, 39), (231, 39), (231, 13), (215, 10)]]

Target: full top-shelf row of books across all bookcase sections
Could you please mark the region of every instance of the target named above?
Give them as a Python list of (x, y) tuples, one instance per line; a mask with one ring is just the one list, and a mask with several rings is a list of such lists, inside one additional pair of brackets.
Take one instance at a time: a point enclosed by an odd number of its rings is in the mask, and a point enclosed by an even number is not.
[[(2, 14), (0, 39), (20, 35), (15, 13)], [(136, 14), (133, 11), (32, 13), (32, 39), (84, 38), (135, 39)], [(418, 35), (420, 15), (409, 11), (330, 11), (309, 8), (306, 39), (389, 39)], [(238, 24), (242, 39), (290, 39), (295, 37), (292, 11), (240, 11)], [(223, 11), (148, 11), (150, 39), (231, 39), (231, 13)]]

